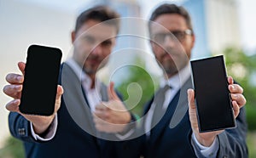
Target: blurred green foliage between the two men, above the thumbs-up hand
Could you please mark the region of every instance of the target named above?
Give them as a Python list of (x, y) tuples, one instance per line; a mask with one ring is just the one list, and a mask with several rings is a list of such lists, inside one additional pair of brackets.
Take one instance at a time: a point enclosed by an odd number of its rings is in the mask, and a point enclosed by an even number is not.
[(129, 66), (125, 71), (127, 77), (117, 89), (122, 93), (128, 109), (135, 115), (142, 116), (143, 106), (154, 96), (155, 90), (159, 87), (157, 82), (159, 78), (146, 70), (145, 63), (140, 57), (137, 57), (135, 65)]

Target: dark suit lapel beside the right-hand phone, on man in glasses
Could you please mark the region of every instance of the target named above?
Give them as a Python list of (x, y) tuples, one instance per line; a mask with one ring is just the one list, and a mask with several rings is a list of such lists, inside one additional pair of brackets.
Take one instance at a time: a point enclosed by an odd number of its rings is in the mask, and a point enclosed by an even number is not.
[(191, 78), (185, 82), (183, 87), (177, 92), (168, 105), (165, 115), (161, 118), (160, 122), (152, 129), (150, 133), (150, 142), (154, 142), (160, 137), (161, 133), (166, 130), (166, 127), (174, 128), (177, 124), (182, 121), (185, 116), (188, 106), (187, 89), (192, 87)]

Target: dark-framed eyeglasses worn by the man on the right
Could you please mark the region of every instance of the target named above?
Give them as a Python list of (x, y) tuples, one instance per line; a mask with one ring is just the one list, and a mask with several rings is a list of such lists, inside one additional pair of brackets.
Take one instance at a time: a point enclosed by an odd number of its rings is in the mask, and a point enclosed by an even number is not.
[(183, 42), (186, 35), (192, 35), (192, 31), (187, 29), (185, 31), (171, 31), (171, 32), (163, 32), (163, 33), (157, 33), (153, 35), (154, 42), (157, 42), (159, 44), (162, 44), (166, 41), (166, 37), (170, 37), (172, 40), (177, 40), (179, 42)]

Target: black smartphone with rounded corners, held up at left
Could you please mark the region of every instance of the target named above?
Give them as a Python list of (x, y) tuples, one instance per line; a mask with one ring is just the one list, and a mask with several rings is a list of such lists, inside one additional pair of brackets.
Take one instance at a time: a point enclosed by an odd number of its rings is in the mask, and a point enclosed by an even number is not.
[(27, 49), (20, 112), (38, 116), (54, 113), (61, 57), (59, 48), (31, 45)]

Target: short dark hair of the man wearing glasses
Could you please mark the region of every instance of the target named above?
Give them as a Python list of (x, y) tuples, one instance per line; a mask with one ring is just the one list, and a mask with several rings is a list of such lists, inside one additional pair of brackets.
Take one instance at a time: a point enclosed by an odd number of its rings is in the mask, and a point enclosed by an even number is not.
[(173, 3), (163, 3), (159, 7), (154, 9), (148, 21), (149, 32), (151, 32), (150, 31), (150, 23), (152, 23), (151, 21), (156, 20), (161, 14), (179, 14), (183, 16), (183, 18), (186, 20), (186, 24), (188, 25), (189, 29), (193, 33), (191, 18), (188, 11), (182, 6), (177, 6), (176, 4), (173, 4)]

